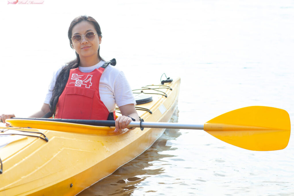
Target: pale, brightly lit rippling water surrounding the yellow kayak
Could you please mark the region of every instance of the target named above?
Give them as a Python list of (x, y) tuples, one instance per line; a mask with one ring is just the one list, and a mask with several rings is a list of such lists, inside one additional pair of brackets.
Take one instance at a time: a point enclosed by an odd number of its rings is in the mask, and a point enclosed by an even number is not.
[[(3, 1), (0, 13), (0, 113), (41, 107), (53, 71), (74, 58), (70, 21), (88, 14), (101, 25), (101, 56), (116, 58), (133, 88), (181, 77), (174, 121), (265, 105), (293, 125), (294, 1)], [(255, 152), (169, 129), (80, 195), (294, 195), (293, 150), (293, 134), (284, 150)]]

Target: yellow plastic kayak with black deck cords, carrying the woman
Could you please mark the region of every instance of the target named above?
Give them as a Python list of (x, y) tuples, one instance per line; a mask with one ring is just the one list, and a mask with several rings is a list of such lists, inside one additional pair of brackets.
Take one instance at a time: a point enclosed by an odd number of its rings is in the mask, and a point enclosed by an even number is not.
[[(147, 122), (168, 122), (179, 86), (177, 78), (138, 90), (152, 97), (137, 105), (139, 116)], [(0, 127), (0, 196), (76, 195), (143, 153), (164, 131), (136, 128), (114, 133), (110, 127), (64, 122), (7, 122), (13, 127)]]

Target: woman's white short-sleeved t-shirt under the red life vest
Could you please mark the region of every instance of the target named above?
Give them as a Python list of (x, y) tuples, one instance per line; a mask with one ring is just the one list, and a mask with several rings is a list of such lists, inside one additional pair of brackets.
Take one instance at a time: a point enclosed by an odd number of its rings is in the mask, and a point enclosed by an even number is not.
[[(104, 63), (104, 61), (100, 61), (94, 66), (78, 67), (78, 69), (81, 72), (89, 73), (94, 69), (98, 69), (99, 67), (103, 66)], [(53, 78), (49, 85), (44, 103), (49, 104), (56, 78), (59, 75), (61, 69), (62, 68), (53, 74)], [(105, 68), (101, 75), (99, 83), (99, 94), (101, 101), (104, 103), (109, 112), (113, 112), (116, 108), (116, 105), (118, 107), (131, 103), (136, 105), (135, 98), (126, 76), (122, 71), (118, 70), (110, 64)]]

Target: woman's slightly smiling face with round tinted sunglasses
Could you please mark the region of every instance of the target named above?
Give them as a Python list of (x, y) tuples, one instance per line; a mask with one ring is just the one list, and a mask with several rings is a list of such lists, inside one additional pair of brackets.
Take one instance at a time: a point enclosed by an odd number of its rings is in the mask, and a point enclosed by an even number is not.
[(84, 36), (88, 32), (97, 33), (94, 25), (91, 22), (81, 21), (74, 26), (71, 32), (71, 37), (74, 35), (82, 36), (82, 40), (80, 43), (72, 42), (73, 48), (76, 50), (76, 53), (78, 53), (80, 58), (90, 57), (94, 55), (97, 57), (99, 44), (101, 43), (101, 37), (99, 37), (98, 34), (95, 34), (95, 38), (92, 41), (89, 41)]

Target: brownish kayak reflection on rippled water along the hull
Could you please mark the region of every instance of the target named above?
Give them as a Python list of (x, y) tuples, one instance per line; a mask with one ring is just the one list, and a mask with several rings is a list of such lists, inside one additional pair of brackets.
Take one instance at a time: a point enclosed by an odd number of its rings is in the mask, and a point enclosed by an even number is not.
[[(170, 122), (178, 122), (178, 109), (173, 113)], [(175, 157), (169, 152), (177, 149), (169, 145), (168, 141), (176, 139), (180, 135), (178, 129), (166, 129), (163, 135), (144, 153), (118, 168), (112, 175), (84, 190), (78, 196), (132, 195), (133, 191), (139, 189), (139, 184), (146, 178), (164, 174), (164, 166), (170, 165), (170, 163), (163, 159)], [(145, 189), (146, 186), (148, 185), (144, 185)], [(154, 191), (148, 190), (147, 192), (152, 193)]]

